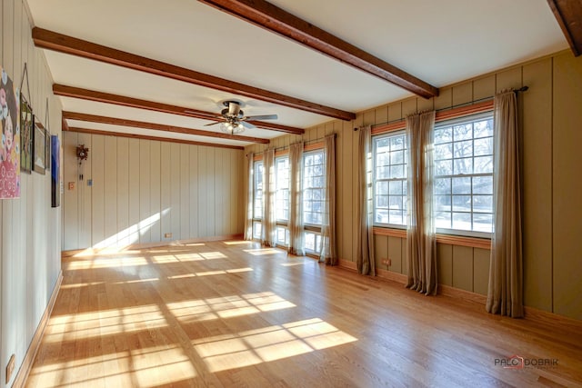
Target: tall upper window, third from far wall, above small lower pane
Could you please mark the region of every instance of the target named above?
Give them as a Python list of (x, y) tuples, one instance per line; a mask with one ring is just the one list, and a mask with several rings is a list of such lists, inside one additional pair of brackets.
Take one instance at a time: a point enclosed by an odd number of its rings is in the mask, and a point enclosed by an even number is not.
[(324, 211), (324, 152), (316, 151), (303, 156), (303, 222), (321, 225)]

